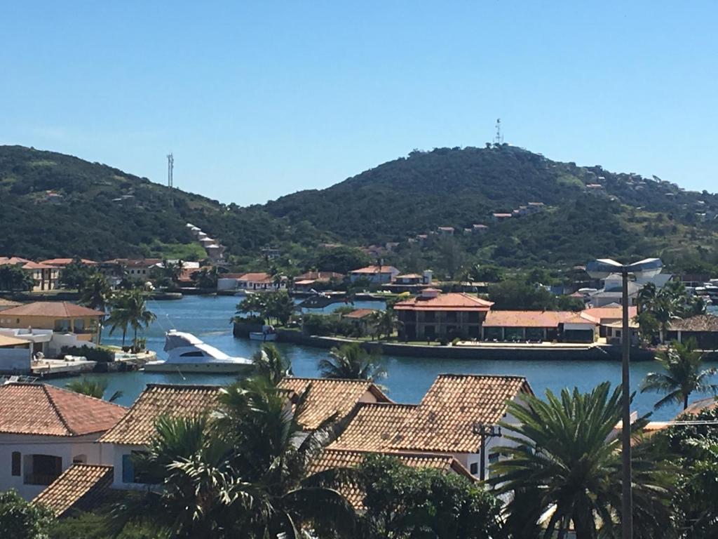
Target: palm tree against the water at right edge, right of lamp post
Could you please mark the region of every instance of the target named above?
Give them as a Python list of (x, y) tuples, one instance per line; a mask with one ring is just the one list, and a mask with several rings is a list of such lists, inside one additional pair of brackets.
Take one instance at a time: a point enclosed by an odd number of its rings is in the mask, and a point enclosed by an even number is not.
[(656, 361), (663, 372), (649, 372), (643, 379), (640, 391), (655, 391), (666, 393), (666, 396), (656, 402), (656, 408), (670, 402), (683, 402), (683, 409), (688, 407), (688, 397), (693, 392), (718, 394), (718, 384), (711, 384), (708, 379), (718, 369), (701, 369), (704, 354), (698, 350), (695, 338), (689, 338), (685, 343), (673, 341), (668, 350), (658, 352)]

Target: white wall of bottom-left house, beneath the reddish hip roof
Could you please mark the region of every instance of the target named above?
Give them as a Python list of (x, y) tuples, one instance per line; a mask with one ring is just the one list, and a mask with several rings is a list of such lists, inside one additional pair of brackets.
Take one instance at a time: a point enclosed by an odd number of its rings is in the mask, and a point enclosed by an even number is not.
[[(76, 456), (86, 456), (88, 464), (100, 463), (99, 444), (95, 443), (98, 434), (88, 436), (31, 436), (22, 434), (0, 434), (0, 491), (16, 489), (24, 499), (33, 499), (45, 489), (46, 485), (24, 484), (26, 455), (52, 455), (62, 459), (62, 471), (73, 464)], [(12, 453), (21, 455), (19, 476), (12, 475)]]

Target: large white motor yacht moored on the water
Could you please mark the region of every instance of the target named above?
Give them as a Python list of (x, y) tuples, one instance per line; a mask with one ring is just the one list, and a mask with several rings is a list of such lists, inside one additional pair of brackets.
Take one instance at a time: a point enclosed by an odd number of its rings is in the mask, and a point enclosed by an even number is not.
[(248, 372), (253, 364), (243, 357), (230, 357), (214, 346), (205, 344), (192, 333), (174, 329), (165, 333), (164, 351), (167, 359), (148, 361), (146, 372), (206, 372), (208, 374), (236, 374)]

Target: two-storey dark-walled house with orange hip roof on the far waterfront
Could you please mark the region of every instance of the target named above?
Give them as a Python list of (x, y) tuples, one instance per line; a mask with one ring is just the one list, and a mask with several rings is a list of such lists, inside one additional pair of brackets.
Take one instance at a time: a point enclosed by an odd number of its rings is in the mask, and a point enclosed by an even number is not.
[(407, 341), (453, 336), (479, 338), (491, 305), (490, 301), (463, 292), (442, 294), (437, 288), (426, 288), (418, 297), (394, 305), (401, 321), (399, 337)]

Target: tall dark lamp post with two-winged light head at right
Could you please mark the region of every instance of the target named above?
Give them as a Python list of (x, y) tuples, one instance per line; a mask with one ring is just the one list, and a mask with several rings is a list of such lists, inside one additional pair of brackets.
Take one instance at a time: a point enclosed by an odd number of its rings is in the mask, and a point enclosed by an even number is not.
[(647, 258), (633, 264), (621, 264), (611, 259), (597, 259), (586, 264), (586, 272), (594, 279), (605, 279), (613, 273), (622, 277), (621, 306), (623, 308), (621, 329), (621, 345), (623, 361), (621, 369), (621, 536), (623, 539), (633, 538), (633, 492), (631, 489), (631, 451), (630, 451), (630, 328), (628, 327), (628, 276), (653, 277), (661, 273), (663, 262), (658, 258)]

